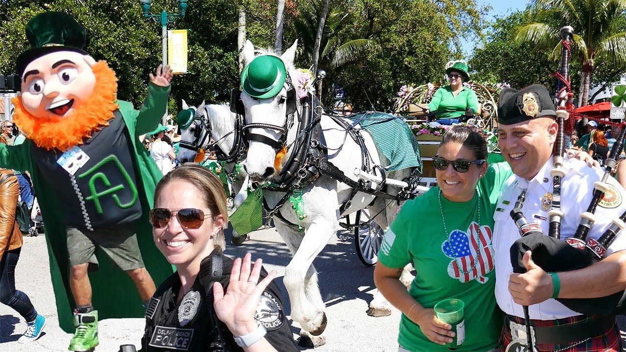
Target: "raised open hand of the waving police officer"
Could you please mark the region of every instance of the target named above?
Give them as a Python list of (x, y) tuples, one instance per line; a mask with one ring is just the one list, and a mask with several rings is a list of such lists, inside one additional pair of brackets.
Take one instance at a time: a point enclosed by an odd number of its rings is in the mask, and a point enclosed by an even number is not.
[(265, 279), (257, 284), (261, 272), (261, 259), (254, 262), (250, 271), (250, 253), (245, 254), (244, 260), (237, 258), (230, 271), (230, 282), (224, 294), (222, 284), (215, 282), (213, 285), (213, 307), (219, 318), (235, 336), (252, 333), (257, 326), (254, 314), (259, 305), (259, 299), (263, 291), (276, 276), (271, 271)]

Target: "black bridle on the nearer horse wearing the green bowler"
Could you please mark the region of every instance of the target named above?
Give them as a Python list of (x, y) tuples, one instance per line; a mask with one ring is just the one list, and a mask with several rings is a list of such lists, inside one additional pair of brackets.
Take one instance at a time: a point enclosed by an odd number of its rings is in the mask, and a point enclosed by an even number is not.
[[(289, 131), (289, 129), (294, 125), (294, 114), (297, 108), (296, 101), (295, 101), (296, 100), (295, 86), (292, 83), (289, 74), (287, 74), (287, 79), (285, 80), (285, 83), (287, 83), (287, 87), (288, 87), (287, 88), (287, 101), (285, 101), (285, 103), (287, 104), (287, 110), (285, 111), (285, 123), (282, 126), (272, 125), (270, 123), (246, 123), (244, 127), (242, 128), (242, 131), (247, 137), (245, 138), (246, 140), (248, 141), (254, 140), (256, 142), (269, 145), (270, 147), (274, 149), (275, 152), (282, 149), (287, 144), (287, 131)], [(231, 97), (231, 103), (230, 103), (231, 109), (234, 108), (235, 111), (237, 111), (238, 115), (239, 115), (238, 110), (240, 110), (240, 108), (242, 108), (243, 106), (243, 104), (241, 104), (240, 101), (241, 101), (241, 98), (239, 98), (239, 101), (237, 100), (233, 101), (233, 98)], [(266, 137), (264, 135), (259, 135), (258, 133), (247, 132), (247, 130), (249, 130), (250, 128), (264, 128), (267, 130), (278, 131), (281, 134), (280, 139), (273, 140), (272, 138)]]

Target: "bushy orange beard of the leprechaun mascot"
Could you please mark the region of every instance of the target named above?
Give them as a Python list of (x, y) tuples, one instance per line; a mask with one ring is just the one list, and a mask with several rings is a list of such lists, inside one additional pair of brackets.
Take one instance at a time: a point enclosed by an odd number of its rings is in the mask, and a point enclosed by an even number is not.
[(69, 150), (76, 145), (85, 143), (91, 133), (108, 126), (113, 118), (113, 111), (118, 110), (117, 77), (115, 72), (106, 65), (106, 61), (98, 61), (91, 67), (96, 76), (93, 93), (72, 111), (69, 116), (38, 118), (29, 113), (21, 99), (11, 100), (15, 105), (13, 122), (30, 140), (47, 150)]

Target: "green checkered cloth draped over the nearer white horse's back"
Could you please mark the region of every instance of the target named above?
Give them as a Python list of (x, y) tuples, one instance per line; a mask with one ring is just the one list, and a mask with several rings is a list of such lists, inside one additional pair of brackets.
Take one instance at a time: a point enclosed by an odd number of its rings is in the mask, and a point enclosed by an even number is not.
[(376, 147), (389, 159), (385, 170), (416, 167), (419, 173), (422, 172), (418, 140), (401, 118), (388, 113), (359, 113), (346, 117), (358, 122), (372, 135)]

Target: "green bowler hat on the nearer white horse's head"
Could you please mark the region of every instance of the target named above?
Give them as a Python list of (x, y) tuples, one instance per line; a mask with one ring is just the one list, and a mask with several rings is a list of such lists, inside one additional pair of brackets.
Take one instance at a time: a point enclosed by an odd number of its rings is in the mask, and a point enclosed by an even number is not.
[(241, 86), (252, 98), (271, 98), (279, 93), (287, 79), (285, 63), (278, 56), (257, 56), (245, 66)]

